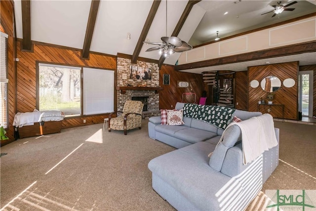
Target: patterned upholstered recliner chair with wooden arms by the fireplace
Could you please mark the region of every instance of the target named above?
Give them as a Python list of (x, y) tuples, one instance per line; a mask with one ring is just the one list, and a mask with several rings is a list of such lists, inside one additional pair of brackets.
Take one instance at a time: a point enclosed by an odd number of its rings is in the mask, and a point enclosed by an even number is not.
[[(129, 129), (136, 127), (141, 129), (143, 107), (142, 101), (127, 100), (122, 112), (112, 112), (109, 115), (109, 132), (111, 132), (111, 129), (124, 130), (124, 135), (126, 135)], [(122, 115), (112, 118), (114, 113), (122, 113)]]

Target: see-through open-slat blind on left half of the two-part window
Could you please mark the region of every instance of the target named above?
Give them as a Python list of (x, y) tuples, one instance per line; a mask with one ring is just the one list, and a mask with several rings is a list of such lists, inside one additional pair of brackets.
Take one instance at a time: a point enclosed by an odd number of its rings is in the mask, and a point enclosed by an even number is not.
[(39, 110), (81, 114), (81, 68), (39, 64)]

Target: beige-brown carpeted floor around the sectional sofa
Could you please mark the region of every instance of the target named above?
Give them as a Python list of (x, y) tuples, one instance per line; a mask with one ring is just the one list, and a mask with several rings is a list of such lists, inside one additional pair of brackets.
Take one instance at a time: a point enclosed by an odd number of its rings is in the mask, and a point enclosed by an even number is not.
[[(142, 129), (102, 124), (19, 139), (0, 148), (2, 210), (174, 210), (151, 186), (148, 162), (175, 150)], [(316, 189), (316, 127), (276, 122), (280, 162), (247, 210), (264, 210), (266, 189)], [(3, 207), (5, 207), (3, 209)]]

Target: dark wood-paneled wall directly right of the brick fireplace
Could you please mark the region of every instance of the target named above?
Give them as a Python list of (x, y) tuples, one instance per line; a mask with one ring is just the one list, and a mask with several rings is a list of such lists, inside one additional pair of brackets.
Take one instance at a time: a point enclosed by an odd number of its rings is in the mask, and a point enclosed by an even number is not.
[[(169, 85), (163, 85), (163, 74), (170, 75)], [(189, 82), (189, 87), (177, 87), (178, 81)], [(176, 103), (182, 101), (182, 94), (184, 92), (196, 93), (196, 102), (198, 103), (202, 91), (204, 90), (204, 83), (201, 74), (175, 71), (174, 67), (169, 65), (161, 66), (159, 70), (159, 85), (163, 88), (163, 90), (159, 91), (160, 109), (174, 109)], [(188, 95), (186, 102), (193, 103), (195, 101), (193, 96), (194, 95)]]

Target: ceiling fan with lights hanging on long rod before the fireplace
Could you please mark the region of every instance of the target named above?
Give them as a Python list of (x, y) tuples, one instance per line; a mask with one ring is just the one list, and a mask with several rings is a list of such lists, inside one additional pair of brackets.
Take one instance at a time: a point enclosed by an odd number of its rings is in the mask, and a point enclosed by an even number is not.
[(183, 52), (192, 49), (192, 45), (187, 42), (181, 41), (177, 37), (167, 37), (167, 0), (166, 0), (166, 37), (161, 37), (162, 42), (144, 42), (147, 44), (156, 44), (157, 47), (151, 47), (146, 50), (154, 51), (159, 50), (160, 54), (163, 54), (165, 57), (173, 54), (174, 52)]

